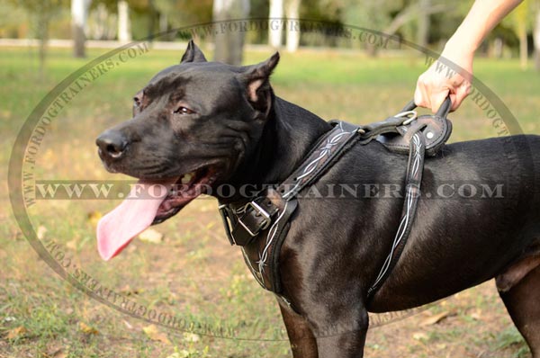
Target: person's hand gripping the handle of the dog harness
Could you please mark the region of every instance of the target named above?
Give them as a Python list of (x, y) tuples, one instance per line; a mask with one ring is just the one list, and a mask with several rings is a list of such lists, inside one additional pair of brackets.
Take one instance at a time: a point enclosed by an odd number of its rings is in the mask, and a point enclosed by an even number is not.
[(471, 92), (473, 78), (473, 52), (461, 52), (462, 49), (445, 49), (441, 57), (419, 76), (414, 103), (435, 113), (449, 95), (451, 111), (460, 106)]

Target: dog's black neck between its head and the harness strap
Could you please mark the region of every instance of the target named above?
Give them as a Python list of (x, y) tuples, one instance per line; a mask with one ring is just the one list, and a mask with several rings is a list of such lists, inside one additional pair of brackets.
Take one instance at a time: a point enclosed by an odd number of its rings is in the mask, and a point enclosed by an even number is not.
[[(265, 128), (257, 142), (257, 148), (238, 168), (241, 180), (233, 178), (231, 184), (239, 189), (242, 185), (261, 187), (281, 183), (301, 164), (311, 146), (331, 129), (319, 116), (274, 97)], [(240, 192), (240, 191), (237, 191)], [(246, 201), (248, 198), (233, 197), (222, 202)]]

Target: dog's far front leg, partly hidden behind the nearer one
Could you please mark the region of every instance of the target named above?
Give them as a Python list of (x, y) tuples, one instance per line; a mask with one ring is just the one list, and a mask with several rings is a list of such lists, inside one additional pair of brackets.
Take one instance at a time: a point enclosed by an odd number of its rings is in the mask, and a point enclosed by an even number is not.
[(284, 307), (282, 302), (280, 302), (279, 309), (281, 309), (285, 328), (287, 328), (287, 336), (289, 336), (293, 357), (318, 358), (317, 341), (306, 319), (294, 313), (291, 309)]

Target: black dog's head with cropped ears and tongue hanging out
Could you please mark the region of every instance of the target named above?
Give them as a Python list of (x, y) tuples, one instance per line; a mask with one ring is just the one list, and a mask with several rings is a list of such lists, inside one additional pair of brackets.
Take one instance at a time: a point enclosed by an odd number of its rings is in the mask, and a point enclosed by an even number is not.
[[(172, 217), (235, 175), (255, 150), (271, 111), (268, 78), (278, 61), (276, 53), (246, 67), (208, 62), (190, 41), (180, 64), (135, 94), (133, 118), (105, 130), (96, 144), (107, 170), (138, 178), (131, 196), (147, 200), (126, 200), (103, 217), (98, 241), (110, 246), (107, 253), (100, 247), (103, 257), (120, 252), (143, 226)], [(130, 227), (123, 228), (126, 221)], [(112, 236), (121, 239), (112, 245), (118, 239)]]

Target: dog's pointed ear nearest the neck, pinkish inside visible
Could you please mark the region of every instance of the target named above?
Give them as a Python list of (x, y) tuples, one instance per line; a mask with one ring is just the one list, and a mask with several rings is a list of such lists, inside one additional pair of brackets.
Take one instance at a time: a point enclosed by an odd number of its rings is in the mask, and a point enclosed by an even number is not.
[(279, 52), (275, 52), (271, 58), (257, 65), (248, 66), (242, 74), (246, 84), (247, 100), (253, 107), (266, 115), (270, 110), (272, 101), (272, 88), (270, 87), (270, 75), (279, 62)]

